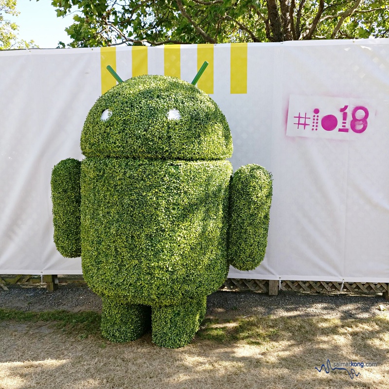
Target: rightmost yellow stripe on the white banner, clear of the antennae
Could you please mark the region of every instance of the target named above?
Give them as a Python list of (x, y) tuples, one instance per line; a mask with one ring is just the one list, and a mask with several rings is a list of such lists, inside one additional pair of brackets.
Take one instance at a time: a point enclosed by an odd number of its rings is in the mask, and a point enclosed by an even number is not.
[(247, 43), (231, 43), (231, 93), (247, 93)]

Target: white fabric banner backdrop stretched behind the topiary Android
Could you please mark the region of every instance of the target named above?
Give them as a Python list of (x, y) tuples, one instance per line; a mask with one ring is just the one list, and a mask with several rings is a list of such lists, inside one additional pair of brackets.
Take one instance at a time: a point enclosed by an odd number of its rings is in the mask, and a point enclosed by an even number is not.
[[(129, 51), (116, 53), (124, 79)], [(148, 72), (163, 74), (163, 48), (148, 53)], [(181, 47), (188, 81), (196, 53)], [(100, 93), (99, 49), (0, 52), (0, 274), (81, 273), (53, 244), (50, 176), (61, 159), (82, 158)], [(258, 163), (274, 179), (265, 260), (229, 277), (388, 283), (389, 40), (249, 44), (247, 94), (230, 94), (230, 45), (216, 45), (211, 96), (230, 123), (234, 169)], [(362, 133), (355, 106), (369, 111)], [(330, 115), (332, 131), (321, 125)]]

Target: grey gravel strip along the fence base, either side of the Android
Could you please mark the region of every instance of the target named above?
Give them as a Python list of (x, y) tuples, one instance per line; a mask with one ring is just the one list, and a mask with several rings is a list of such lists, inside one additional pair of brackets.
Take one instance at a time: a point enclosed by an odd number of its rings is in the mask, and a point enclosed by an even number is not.
[[(381, 295), (307, 294), (282, 291), (278, 296), (265, 293), (218, 291), (208, 297), (207, 316), (370, 318), (389, 311), (389, 301)], [(0, 289), (0, 308), (23, 311), (64, 309), (72, 312), (101, 312), (101, 298), (87, 286), (60, 285), (55, 292), (42, 287), (10, 286)]]

